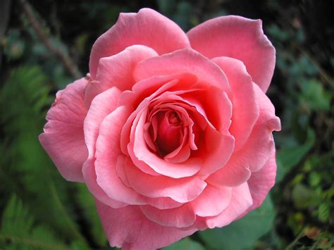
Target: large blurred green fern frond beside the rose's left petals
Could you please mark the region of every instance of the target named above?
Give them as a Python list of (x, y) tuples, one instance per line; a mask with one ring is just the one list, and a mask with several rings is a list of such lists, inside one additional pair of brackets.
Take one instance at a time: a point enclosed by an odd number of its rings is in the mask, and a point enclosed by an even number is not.
[(57, 235), (85, 242), (71, 202), (70, 184), (63, 180), (38, 141), (50, 97), (48, 78), (39, 67), (11, 72), (0, 91), (0, 183), (15, 180), (15, 187), (0, 185), (0, 194), (16, 190), (40, 223), (52, 225)]

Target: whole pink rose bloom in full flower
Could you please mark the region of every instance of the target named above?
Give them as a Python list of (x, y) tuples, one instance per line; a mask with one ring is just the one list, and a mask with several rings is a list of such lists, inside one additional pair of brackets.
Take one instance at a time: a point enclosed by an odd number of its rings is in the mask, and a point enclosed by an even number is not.
[(223, 16), (185, 34), (149, 8), (121, 13), (39, 140), (66, 180), (86, 183), (111, 246), (223, 227), (275, 182), (275, 59), (261, 20)]

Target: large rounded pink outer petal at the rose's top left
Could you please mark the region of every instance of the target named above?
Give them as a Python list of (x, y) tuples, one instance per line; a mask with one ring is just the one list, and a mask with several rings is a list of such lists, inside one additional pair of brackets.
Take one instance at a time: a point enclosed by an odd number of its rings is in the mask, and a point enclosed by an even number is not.
[(178, 25), (160, 13), (142, 8), (138, 13), (120, 13), (116, 25), (97, 39), (89, 59), (92, 78), (102, 57), (112, 56), (126, 47), (142, 44), (158, 54), (190, 47), (187, 36)]

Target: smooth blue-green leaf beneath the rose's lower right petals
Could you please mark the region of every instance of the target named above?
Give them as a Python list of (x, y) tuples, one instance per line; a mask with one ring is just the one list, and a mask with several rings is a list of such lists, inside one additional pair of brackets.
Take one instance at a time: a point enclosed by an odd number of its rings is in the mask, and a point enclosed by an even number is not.
[(271, 230), (274, 218), (273, 204), (270, 196), (267, 196), (259, 208), (244, 218), (222, 228), (199, 232), (199, 235), (214, 249), (245, 249)]

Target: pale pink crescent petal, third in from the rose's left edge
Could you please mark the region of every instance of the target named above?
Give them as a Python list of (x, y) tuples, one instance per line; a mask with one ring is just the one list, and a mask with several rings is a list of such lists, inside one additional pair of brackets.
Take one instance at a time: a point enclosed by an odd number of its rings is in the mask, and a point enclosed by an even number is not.
[(123, 184), (116, 173), (116, 164), (120, 151), (120, 131), (128, 118), (129, 111), (125, 106), (116, 108), (104, 118), (99, 128), (95, 154), (97, 184), (114, 201), (129, 205), (150, 204), (159, 208), (175, 208), (178, 202), (170, 198), (151, 199), (135, 192)]

